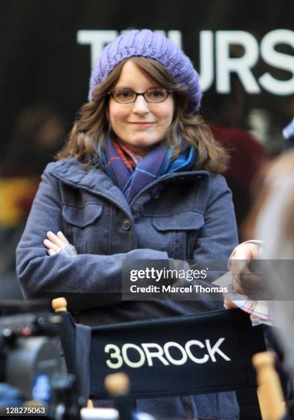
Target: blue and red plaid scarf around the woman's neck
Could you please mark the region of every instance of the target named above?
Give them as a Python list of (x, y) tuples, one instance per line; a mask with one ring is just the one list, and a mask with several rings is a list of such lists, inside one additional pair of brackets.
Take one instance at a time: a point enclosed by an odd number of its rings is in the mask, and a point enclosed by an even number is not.
[[(127, 202), (153, 180), (164, 174), (191, 170), (197, 154), (182, 139), (182, 153), (171, 161), (173, 148), (159, 143), (146, 156), (138, 156), (119, 141), (108, 138), (106, 151), (102, 152), (100, 167), (119, 186)], [(97, 160), (94, 161), (94, 165)]]

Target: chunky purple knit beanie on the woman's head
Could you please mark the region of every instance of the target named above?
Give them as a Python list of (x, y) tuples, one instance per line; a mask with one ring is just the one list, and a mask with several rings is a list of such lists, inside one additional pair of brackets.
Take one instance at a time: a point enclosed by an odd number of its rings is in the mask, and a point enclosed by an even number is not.
[(170, 71), (177, 82), (188, 86), (189, 112), (199, 110), (201, 89), (199, 75), (191, 60), (183, 51), (160, 33), (150, 30), (130, 30), (108, 44), (100, 54), (90, 78), (88, 100), (101, 84), (125, 58), (143, 56), (154, 58)]

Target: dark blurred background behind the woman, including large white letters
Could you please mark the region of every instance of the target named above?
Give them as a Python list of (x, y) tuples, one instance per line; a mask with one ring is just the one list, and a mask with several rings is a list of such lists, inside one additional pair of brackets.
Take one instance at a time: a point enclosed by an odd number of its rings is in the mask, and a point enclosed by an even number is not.
[(130, 27), (164, 31), (199, 71), (201, 114), (232, 156), (225, 176), (239, 226), (260, 167), (285, 148), (282, 129), (294, 117), (293, 1), (1, 0), (1, 299), (21, 298), (16, 244), (40, 174), (87, 101), (95, 58)]

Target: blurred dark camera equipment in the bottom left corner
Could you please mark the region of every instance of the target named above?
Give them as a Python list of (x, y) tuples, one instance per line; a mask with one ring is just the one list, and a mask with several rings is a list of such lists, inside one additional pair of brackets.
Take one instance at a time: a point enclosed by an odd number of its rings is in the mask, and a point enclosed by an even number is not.
[(61, 323), (49, 301), (0, 301), (0, 407), (42, 401), (51, 419), (80, 419), (85, 401), (62, 369)]

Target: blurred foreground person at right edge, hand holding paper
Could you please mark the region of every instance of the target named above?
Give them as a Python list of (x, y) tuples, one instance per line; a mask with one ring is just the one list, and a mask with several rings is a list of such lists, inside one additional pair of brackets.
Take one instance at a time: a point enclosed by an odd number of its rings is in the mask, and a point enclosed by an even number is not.
[[(256, 204), (243, 226), (247, 237), (259, 240), (249, 240), (234, 250), (232, 288), (238, 294), (226, 296), (225, 305), (240, 307), (250, 314), (254, 324), (274, 326), (265, 329), (267, 346), (277, 355), (285, 399), (292, 400), (289, 375), (293, 382), (294, 151), (284, 152), (263, 172)], [(250, 268), (254, 260), (263, 263), (258, 274)]]

